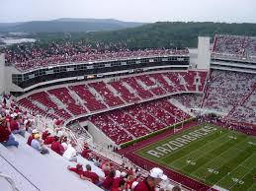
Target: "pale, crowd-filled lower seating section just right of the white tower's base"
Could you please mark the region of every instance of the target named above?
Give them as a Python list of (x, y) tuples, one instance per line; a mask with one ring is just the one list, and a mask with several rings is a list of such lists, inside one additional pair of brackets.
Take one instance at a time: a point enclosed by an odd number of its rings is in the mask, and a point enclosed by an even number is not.
[(205, 108), (228, 113), (252, 91), (256, 75), (213, 70), (207, 93), (203, 100)]

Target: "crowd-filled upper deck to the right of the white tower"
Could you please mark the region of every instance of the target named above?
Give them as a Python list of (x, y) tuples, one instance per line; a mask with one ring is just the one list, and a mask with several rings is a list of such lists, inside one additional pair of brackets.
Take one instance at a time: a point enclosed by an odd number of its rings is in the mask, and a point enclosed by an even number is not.
[(213, 53), (255, 57), (256, 37), (242, 35), (215, 35)]

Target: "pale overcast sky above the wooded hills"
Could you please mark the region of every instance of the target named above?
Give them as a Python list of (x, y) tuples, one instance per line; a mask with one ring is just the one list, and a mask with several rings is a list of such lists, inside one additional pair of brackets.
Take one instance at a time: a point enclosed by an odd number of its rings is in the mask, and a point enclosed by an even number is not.
[(59, 18), (256, 23), (256, 0), (0, 0), (0, 23)]

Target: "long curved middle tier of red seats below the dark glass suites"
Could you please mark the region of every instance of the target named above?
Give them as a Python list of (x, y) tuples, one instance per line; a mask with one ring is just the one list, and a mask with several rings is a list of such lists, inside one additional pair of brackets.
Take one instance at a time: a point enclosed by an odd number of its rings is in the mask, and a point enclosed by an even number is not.
[[(199, 79), (199, 82), (195, 84), (196, 79)], [(66, 120), (72, 116), (86, 114), (88, 111), (93, 114), (97, 111), (125, 106), (127, 103), (154, 99), (157, 96), (202, 92), (206, 80), (207, 72), (204, 71), (141, 74), (120, 80), (113, 79), (108, 83), (99, 81), (57, 88), (23, 98), (19, 103), (46, 117), (60, 117)], [(35, 105), (38, 103), (41, 105)], [(163, 114), (164, 111), (159, 110), (159, 112)], [(166, 125), (169, 122), (167, 120), (164, 123)], [(158, 129), (158, 126), (161, 125), (156, 125), (154, 129)]]

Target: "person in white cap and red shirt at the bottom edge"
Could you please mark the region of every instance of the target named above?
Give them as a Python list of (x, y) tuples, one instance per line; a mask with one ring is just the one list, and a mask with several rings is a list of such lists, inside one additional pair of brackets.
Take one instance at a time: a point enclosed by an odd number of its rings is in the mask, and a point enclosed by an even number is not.
[(135, 187), (134, 191), (154, 191), (155, 187), (162, 181), (166, 180), (167, 176), (163, 174), (163, 170), (154, 167), (150, 170), (147, 178), (144, 181), (139, 182)]

